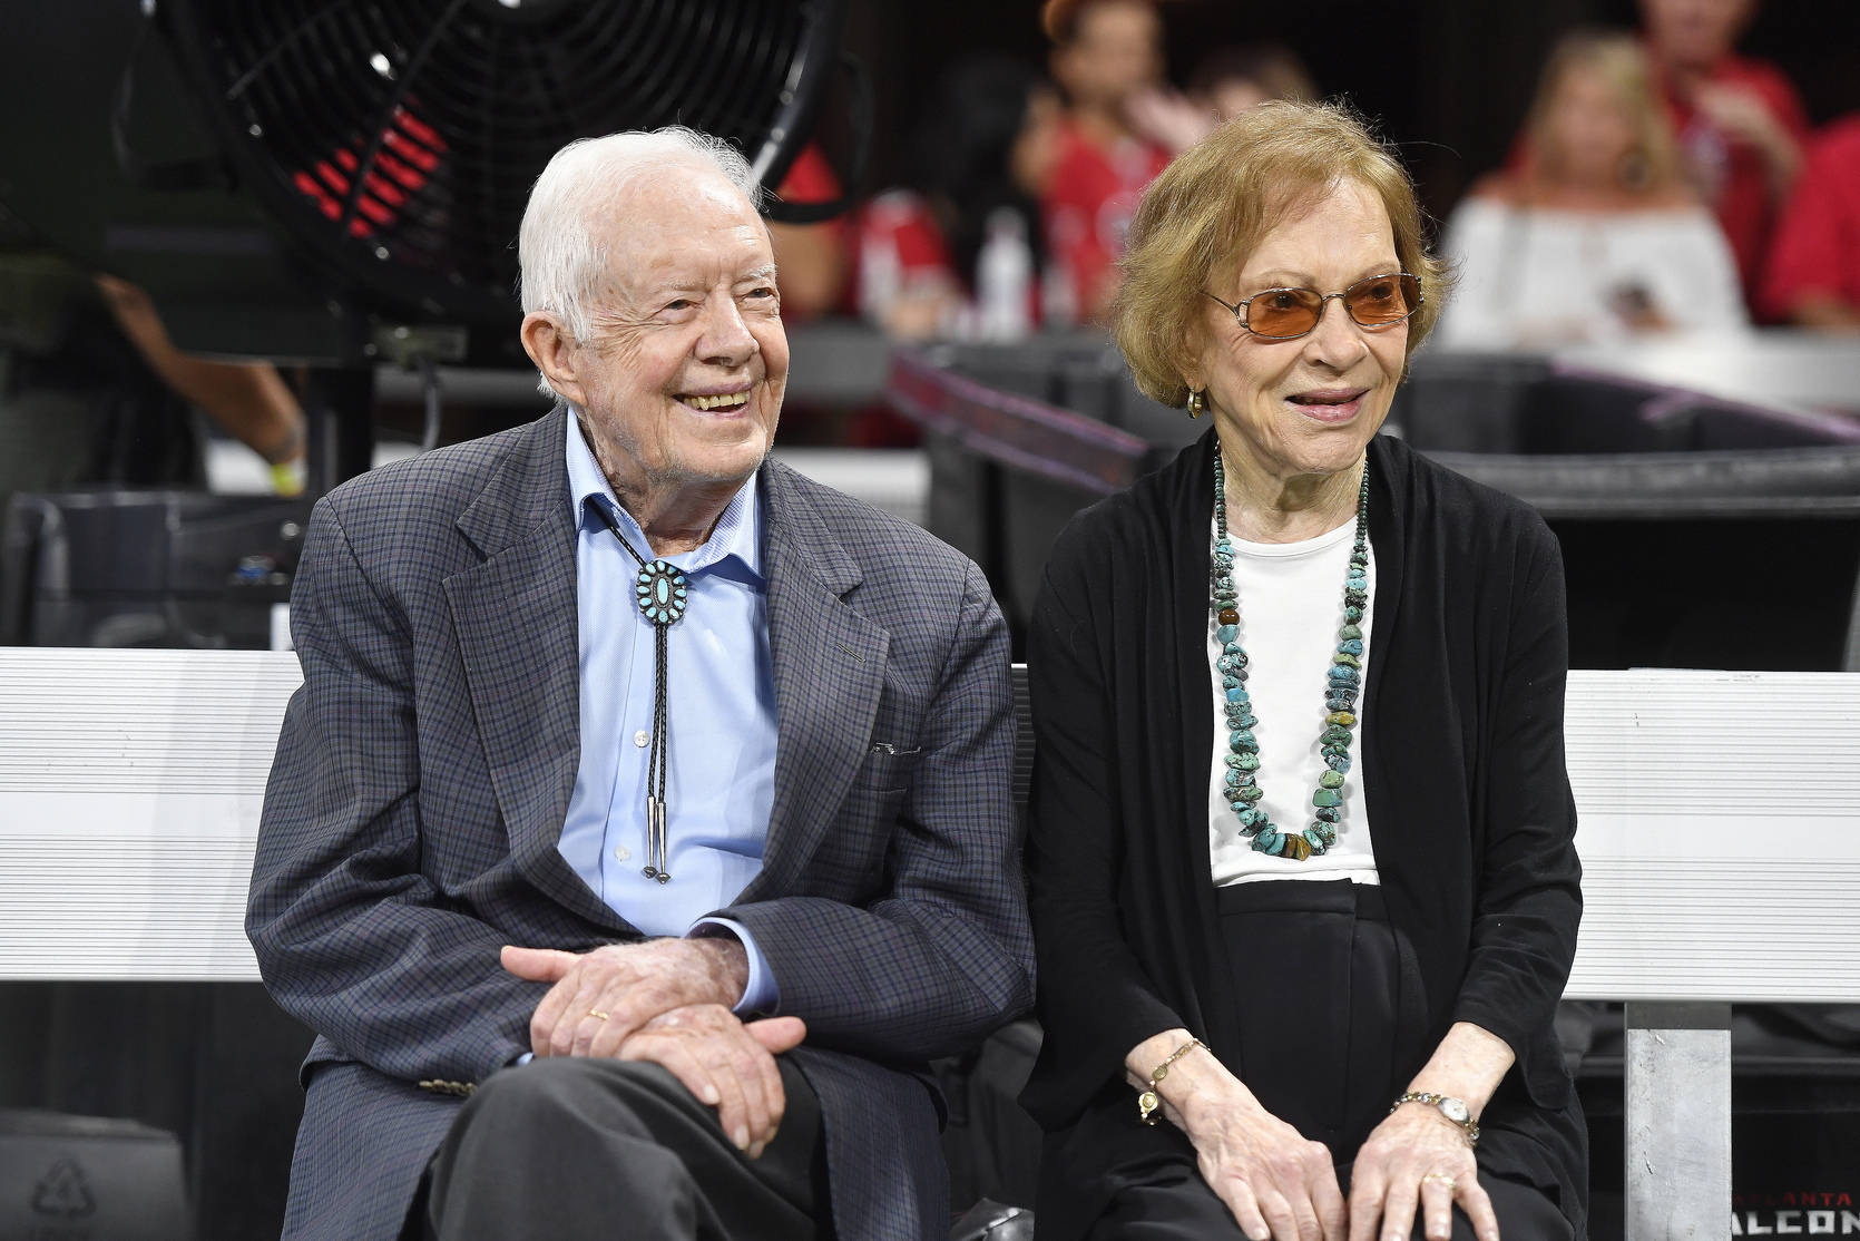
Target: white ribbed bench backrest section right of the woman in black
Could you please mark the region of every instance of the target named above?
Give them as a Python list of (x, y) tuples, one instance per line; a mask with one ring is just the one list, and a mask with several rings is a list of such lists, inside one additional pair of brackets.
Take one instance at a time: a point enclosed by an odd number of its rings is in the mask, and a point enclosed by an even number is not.
[(1570, 999), (1860, 1001), (1860, 674), (1572, 672)]

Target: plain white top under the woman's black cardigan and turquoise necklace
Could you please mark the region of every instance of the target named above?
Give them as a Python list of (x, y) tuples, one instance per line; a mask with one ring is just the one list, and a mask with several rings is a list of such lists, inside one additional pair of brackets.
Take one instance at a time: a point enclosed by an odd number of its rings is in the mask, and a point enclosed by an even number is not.
[[(1259, 806), (1282, 832), (1311, 826), (1311, 794), (1324, 772), (1319, 737), (1324, 731), (1324, 692), (1330, 657), (1343, 629), (1343, 577), (1356, 545), (1356, 519), (1330, 534), (1302, 543), (1248, 543), (1231, 534), (1233, 586), (1239, 592), (1241, 649), (1246, 651), (1244, 681), (1259, 724)], [(1369, 685), (1369, 638), (1376, 607), (1376, 554), (1369, 553), (1369, 607), (1358, 627), (1363, 631), (1363, 679)], [(1376, 884), (1376, 856), (1369, 843), (1369, 806), (1363, 800), (1363, 696), (1356, 698), (1356, 737), (1350, 742), (1350, 770), (1343, 778), (1343, 811), (1337, 843), (1330, 852), (1304, 861), (1254, 852), (1241, 835), (1241, 819), (1228, 807), (1222, 785), (1228, 778), (1226, 690), (1220, 687), (1220, 642), (1215, 638), (1213, 610), (1207, 618), (1207, 668), (1215, 681), (1215, 768), (1207, 785), (1207, 848), (1215, 867), (1215, 886), (1246, 884), (1267, 878), (1348, 878)]]

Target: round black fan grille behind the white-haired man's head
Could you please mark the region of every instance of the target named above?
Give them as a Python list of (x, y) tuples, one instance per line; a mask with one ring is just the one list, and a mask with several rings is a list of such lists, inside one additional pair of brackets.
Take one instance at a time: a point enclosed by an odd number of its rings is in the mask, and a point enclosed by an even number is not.
[(679, 123), (753, 158), (779, 140), (809, 17), (770, 0), (192, 7), (273, 214), (391, 301), (474, 320), (515, 313), (523, 208), (569, 141)]

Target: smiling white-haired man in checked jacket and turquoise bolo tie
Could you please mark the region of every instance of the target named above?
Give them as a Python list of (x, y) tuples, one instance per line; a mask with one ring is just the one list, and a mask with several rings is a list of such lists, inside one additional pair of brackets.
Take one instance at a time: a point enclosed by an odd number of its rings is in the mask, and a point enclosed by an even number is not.
[(564, 149), (554, 413), (316, 506), (247, 919), (320, 1034), (288, 1237), (947, 1235), (924, 1062), (1032, 999), (1006, 633), (768, 460), (755, 195), (690, 130)]

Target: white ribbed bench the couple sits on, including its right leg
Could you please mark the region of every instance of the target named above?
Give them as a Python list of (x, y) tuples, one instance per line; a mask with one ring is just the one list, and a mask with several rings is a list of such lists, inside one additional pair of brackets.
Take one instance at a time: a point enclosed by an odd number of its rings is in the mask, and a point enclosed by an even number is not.
[[(255, 981), (288, 653), (0, 647), (0, 979)], [(1629, 1005), (1628, 1237), (1722, 1235), (1730, 1003), (1860, 1001), (1860, 675), (1575, 672), (1587, 910)]]

